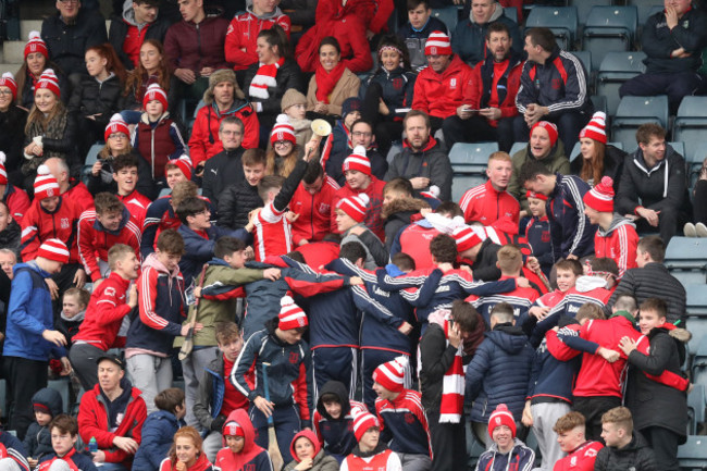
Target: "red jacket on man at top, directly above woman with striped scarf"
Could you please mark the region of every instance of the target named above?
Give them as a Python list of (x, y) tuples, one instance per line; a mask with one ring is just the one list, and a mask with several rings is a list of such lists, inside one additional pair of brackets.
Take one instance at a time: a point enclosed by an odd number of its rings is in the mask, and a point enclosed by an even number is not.
[(226, 32), (225, 51), (226, 61), (234, 64), (233, 69), (235, 71), (243, 71), (248, 69), (250, 64), (258, 62), (258, 54), (256, 53), (258, 34), (263, 29), (272, 28), (273, 25), (282, 26), (289, 38), (292, 27), (289, 16), (282, 13), (278, 8), (266, 20), (259, 18), (248, 9), (246, 13), (236, 15), (231, 21)]

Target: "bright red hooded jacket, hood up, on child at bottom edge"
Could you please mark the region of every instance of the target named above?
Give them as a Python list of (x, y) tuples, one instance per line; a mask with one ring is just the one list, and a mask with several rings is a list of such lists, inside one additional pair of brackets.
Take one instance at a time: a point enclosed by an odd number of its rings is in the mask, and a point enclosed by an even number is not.
[(248, 418), (248, 412), (243, 409), (231, 412), (223, 425), (224, 431), (231, 422), (236, 422), (243, 429), (245, 444), (240, 453), (237, 454), (231, 451), (228, 447), (219, 450), (214, 466), (222, 470), (233, 471), (272, 471), (273, 466), (268, 450), (256, 444), (256, 430)]

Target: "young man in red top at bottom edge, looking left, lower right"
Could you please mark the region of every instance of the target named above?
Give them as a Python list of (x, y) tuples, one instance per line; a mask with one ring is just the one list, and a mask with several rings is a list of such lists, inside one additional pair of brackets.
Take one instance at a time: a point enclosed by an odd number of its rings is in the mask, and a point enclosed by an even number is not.
[(567, 454), (555, 463), (553, 471), (594, 470), (597, 451), (604, 445), (585, 438), (584, 416), (580, 412), (568, 412), (557, 420), (553, 430), (557, 433), (560, 448)]

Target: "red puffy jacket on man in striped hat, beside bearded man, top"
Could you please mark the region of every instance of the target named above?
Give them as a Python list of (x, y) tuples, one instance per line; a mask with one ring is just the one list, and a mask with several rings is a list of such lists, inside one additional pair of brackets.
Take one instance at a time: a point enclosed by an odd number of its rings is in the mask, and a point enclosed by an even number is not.
[(414, 83), (412, 109), (431, 116), (448, 117), (457, 114), (457, 108), (471, 103), (474, 88), (473, 71), (459, 55), (442, 74), (425, 67)]

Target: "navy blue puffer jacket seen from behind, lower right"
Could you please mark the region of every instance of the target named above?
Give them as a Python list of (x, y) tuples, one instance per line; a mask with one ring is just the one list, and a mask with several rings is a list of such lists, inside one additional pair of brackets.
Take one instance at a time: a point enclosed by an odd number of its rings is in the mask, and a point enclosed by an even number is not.
[(535, 352), (520, 327), (497, 324), (485, 334), (467, 367), (466, 402), (474, 402), (471, 421), (488, 423), (499, 404), (520, 421)]

